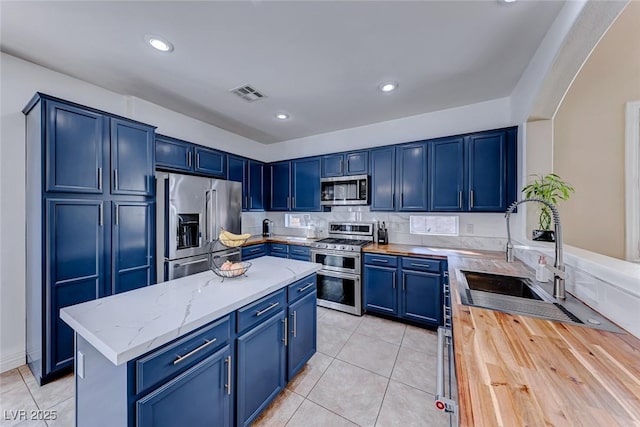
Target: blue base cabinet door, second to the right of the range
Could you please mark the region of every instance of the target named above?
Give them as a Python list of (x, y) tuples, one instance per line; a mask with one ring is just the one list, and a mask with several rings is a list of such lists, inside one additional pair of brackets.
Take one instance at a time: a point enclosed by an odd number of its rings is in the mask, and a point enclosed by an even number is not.
[(441, 276), (407, 270), (402, 270), (401, 274), (400, 316), (421, 323), (440, 324), (442, 316)]

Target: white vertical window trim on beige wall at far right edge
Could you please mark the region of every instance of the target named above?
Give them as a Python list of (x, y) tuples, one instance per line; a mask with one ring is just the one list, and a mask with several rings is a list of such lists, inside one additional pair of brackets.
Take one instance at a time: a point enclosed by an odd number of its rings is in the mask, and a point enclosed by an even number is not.
[(626, 258), (640, 262), (640, 101), (627, 102), (626, 118)]

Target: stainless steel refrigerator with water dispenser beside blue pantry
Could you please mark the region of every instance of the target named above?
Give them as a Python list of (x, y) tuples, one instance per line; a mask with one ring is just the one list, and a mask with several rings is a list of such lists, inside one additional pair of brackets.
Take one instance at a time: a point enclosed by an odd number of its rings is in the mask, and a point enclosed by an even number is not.
[(181, 174), (157, 176), (158, 236), (164, 259), (158, 277), (176, 279), (209, 268), (211, 256), (240, 260), (218, 242), (221, 229), (240, 233), (242, 184)]

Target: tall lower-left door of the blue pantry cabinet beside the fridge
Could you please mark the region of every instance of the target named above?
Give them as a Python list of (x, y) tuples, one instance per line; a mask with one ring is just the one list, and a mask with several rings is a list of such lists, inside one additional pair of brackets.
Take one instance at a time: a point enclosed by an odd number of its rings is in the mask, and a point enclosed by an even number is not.
[[(44, 322), (50, 334), (44, 337), (43, 376), (73, 365), (73, 330), (59, 318), (60, 309), (107, 293), (104, 205), (102, 200), (46, 200), (48, 237), (43, 256), (50, 281), (45, 287), (49, 305)], [(35, 312), (38, 307), (29, 305), (27, 328), (31, 332), (39, 315)]]

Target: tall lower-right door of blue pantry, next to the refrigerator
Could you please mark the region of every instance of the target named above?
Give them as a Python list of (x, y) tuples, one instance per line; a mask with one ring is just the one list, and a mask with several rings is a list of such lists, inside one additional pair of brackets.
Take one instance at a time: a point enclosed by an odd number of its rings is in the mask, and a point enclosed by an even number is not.
[(112, 294), (156, 282), (154, 218), (154, 202), (113, 202)]

